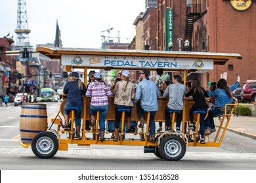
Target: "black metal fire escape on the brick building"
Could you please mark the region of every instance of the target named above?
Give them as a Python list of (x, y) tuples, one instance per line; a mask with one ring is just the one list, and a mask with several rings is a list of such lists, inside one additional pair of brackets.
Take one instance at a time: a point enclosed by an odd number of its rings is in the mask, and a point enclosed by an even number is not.
[(186, 7), (186, 29), (185, 29), (185, 40), (188, 40), (189, 46), (185, 46), (186, 51), (192, 51), (192, 34), (194, 28), (194, 22), (199, 20), (206, 10), (202, 12), (200, 4), (190, 4)]

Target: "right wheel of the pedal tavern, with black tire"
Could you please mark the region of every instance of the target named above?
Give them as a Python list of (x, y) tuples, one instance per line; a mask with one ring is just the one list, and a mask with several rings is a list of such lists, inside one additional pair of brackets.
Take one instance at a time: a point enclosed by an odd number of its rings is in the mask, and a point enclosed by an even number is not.
[(159, 152), (167, 161), (179, 161), (186, 153), (186, 144), (177, 135), (167, 135), (160, 142)]

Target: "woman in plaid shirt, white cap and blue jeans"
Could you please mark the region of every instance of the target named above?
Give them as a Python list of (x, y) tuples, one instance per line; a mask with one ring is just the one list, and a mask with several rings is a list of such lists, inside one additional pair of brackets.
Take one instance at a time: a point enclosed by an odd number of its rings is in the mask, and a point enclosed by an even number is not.
[(108, 88), (108, 85), (102, 80), (100, 73), (94, 74), (95, 81), (91, 82), (87, 88), (86, 97), (91, 97), (90, 114), (91, 124), (95, 125), (95, 112), (100, 111), (100, 141), (105, 140), (105, 119), (108, 112), (108, 97), (112, 96), (112, 92)]

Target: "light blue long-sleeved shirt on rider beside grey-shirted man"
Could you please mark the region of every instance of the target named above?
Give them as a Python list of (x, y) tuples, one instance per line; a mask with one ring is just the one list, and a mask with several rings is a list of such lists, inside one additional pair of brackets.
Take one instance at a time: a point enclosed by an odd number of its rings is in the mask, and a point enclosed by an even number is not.
[(156, 83), (144, 78), (137, 84), (134, 102), (140, 100), (141, 107), (146, 111), (158, 110), (158, 97), (160, 92)]

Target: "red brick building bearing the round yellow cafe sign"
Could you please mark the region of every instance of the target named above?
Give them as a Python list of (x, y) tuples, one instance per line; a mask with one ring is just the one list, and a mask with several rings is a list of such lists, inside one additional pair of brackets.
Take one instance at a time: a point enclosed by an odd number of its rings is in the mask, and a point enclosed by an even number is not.
[[(232, 84), (236, 73), (245, 80), (256, 79), (256, 3), (255, 1), (195, 1), (202, 4), (203, 15), (194, 24), (192, 46), (198, 51), (237, 53), (242, 60), (229, 60), (225, 65), (215, 65), (209, 72), (209, 81), (219, 80), (227, 73)], [(233, 4), (233, 5), (232, 5)], [(234, 6), (234, 7), (233, 7)], [(244, 7), (245, 10), (238, 10)]]

